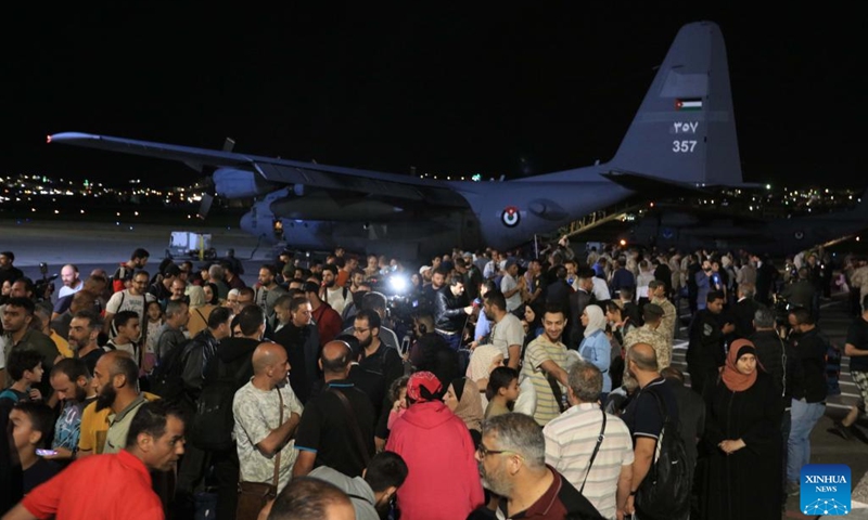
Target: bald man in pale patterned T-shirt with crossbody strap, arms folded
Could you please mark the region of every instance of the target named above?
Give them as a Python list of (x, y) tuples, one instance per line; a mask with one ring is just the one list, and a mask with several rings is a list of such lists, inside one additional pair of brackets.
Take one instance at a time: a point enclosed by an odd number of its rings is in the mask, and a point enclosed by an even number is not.
[(292, 438), (304, 411), (289, 385), (290, 368), (283, 347), (259, 343), (253, 351), (253, 378), (232, 400), (241, 480), (271, 483), (277, 464), (278, 492), (290, 481), (296, 457)]

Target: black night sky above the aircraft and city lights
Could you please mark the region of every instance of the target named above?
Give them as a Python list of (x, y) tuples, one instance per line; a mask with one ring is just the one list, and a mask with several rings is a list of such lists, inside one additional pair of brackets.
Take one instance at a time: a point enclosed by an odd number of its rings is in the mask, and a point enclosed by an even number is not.
[(61, 131), (215, 148), (230, 135), (241, 152), (393, 172), (587, 166), (614, 154), (678, 28), (711, 20), (727, 43), (745, 180), (865, 178), (868, 60), (856, 3), (771, 14), (650, 2), (412, 2), (409, 12), (30, 3), (7, 10), (0, 174), (197, 176), (44, 144)]

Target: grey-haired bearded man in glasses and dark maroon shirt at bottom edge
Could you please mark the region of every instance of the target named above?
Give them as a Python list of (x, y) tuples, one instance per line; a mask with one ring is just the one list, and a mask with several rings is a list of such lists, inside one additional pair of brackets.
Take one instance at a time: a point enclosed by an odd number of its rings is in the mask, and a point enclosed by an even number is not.
[(500, 496), (499, 518), (603, 518), (561, 473), (546, 464), (542, 430), (524, 414), (486, 419), (482, 424), (476, 460), (483, 486)]

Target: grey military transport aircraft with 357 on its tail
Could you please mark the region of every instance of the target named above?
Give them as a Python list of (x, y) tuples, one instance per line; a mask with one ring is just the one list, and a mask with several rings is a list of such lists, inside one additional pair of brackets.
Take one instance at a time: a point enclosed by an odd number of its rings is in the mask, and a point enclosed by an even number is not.
[(614, 158), (511, 181), (420, 179), (78, 132), (64, 143), (213, 169), (215, 192), (255, 197), (241, 227), (293, 247), (510, 248), (633, 196), (743, 185), (726, 47), (712, 22), (684, 26)]

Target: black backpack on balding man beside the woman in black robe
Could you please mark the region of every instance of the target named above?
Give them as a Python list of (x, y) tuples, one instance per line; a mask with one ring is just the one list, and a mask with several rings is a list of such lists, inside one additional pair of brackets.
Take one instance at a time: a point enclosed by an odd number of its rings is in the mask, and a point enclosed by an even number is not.
[(679, 518), (690, 506), (693, 476), (687, 464), (687, 450), (679, 433), (678, 421), (666, 412), (663, 400), (649, 390), (663, 416), (663, 429), (654, 444), (654, 459), (636, 493), (636, 509), (640, 518)]

